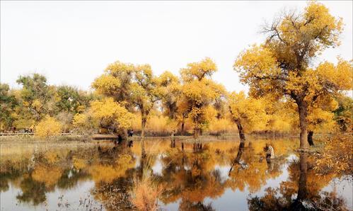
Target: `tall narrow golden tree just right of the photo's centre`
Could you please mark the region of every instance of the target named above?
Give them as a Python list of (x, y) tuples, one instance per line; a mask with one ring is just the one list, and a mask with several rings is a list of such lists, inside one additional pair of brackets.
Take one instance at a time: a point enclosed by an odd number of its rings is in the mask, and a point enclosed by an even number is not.
[(216, 64), (209, 58), (187, 64), (186, 68), (180, 70), (183, 79), (181, 104), (188, 118), (192, 120), (195, 138), (207, 126), (207, 105), (212, 105), (217, 98), (224, 95), (224, 87), (211, 79), (216, 71)]

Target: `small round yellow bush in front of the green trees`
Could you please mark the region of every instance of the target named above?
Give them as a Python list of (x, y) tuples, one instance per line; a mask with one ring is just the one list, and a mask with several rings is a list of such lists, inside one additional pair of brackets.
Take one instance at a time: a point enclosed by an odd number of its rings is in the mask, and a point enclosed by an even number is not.
[(35, 135), (39, 137), (52, 137), (59, 135), (62, 124), (54, 118), (47, 116), (35, 126)]

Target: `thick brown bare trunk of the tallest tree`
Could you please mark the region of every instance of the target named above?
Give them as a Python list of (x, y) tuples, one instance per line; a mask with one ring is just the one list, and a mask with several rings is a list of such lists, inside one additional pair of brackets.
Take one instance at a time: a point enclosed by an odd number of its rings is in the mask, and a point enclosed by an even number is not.
[(308, 148), (308, 122), (306, 116), (308, 115), (308, 105), (302, 100), (297, 101), (299, 110), (299, 125), (300, 125), (300, 149)]

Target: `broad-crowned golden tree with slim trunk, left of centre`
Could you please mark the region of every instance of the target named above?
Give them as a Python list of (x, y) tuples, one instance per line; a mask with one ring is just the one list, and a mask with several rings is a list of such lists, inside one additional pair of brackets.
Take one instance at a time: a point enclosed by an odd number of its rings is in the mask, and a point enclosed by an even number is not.
[(154, 103), (160, 99), (160, 90), (156, 76), (149, 64), (109, 64), (105, 73), (92, 84), (93, 88), (117, 102), (123, 102), (125, 108), (141, 113), (141, 137), (144, 137), (147, 118)]

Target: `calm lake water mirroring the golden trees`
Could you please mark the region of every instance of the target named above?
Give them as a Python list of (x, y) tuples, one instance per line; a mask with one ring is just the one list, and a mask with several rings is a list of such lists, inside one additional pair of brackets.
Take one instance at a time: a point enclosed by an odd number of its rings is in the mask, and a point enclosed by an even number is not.
[[(274, 147), (267, 163), (263, 147)], [(296, 139), (254, 139), (203, 144), (184, 151), (177, 139), (147, 139), (122, 147), (112, 142), (1, 142), (1, 210), (134, 210), (134, 181), (149, 170), (163, 187), (161, 210), (353, 210), (352, 178), (318, 176), (313, 158), (294, 151)]]

